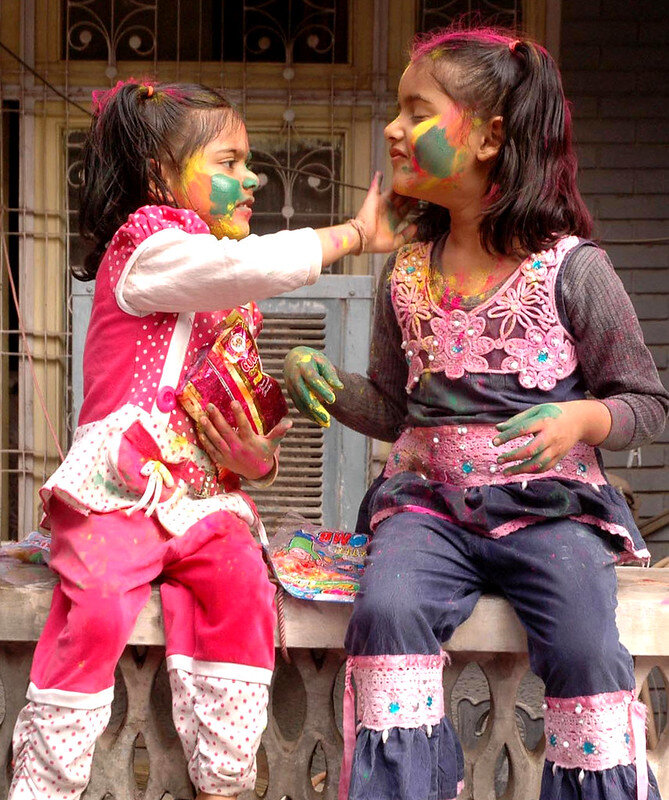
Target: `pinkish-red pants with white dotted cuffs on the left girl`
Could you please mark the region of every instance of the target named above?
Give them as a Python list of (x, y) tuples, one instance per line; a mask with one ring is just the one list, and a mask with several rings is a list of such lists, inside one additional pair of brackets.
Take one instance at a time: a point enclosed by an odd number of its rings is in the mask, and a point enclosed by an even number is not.
[(116, 663), (158, 577), (191, 780), (210, 794), (252, 789), (274, 666), (274, 588), (246, 524), (219, 512), (172, 538), (141, 513), (84, 516), (60, 501), (49, 511), (60, 584), (14, 731), (8, 800), (84, 791)]

